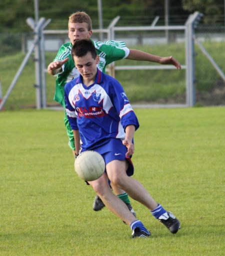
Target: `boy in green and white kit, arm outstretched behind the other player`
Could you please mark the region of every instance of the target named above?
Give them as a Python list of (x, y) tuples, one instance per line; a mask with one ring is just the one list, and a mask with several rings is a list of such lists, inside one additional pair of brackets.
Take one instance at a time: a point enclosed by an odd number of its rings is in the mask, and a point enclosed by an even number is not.
[[(74, 77), (78, 76), (72, 56), (71, 48), (76, 41), (82, 39), (90, 39), (92, 36), (91, 31), (91, 19), (84, 12), (73, 13), (68, 20), (68, 38), (69, 43), (63, 44), (53, 62), (51, 62), (47, 67), (47, 72), (50, 75), (56, 76), (56, 88), (54, 100), (59, 102), (63, 107), (65, 107), (64, 102), (64, 85), (72, 80)], [(92, 40), (91, 40), (92, 41)], [(99, 56), (99, 63), (97, 64), (98, 69), (105, 72), (106, 65), (113, 61), (121, 59), (130, 60), (140, 60), (156, 62), (159, 64), (170, 64), (174, 65), (176, 69), (180, 69), (181, 66), (178, 61), (176, 61), (172, 56), (170, 57), (159, 57), (149, 53), (145, 53), (135, 49), (128, 49), (124, 42), (121, 41), (106, 41), (106, 42), (94, 42), (92, 41), (97, 55)], [(71, 148), (73, 155), (78, 155), (79, 145), (74, 143), (74, 134), (77, 131), (72, 131), (66, 113), (64, 114), (64, 124), (66, 127), (67, 135), (69, 138), (69, 147)], [(75, 147), (76, 146), (76, 147)], [(112, 187), (113, 192), (126, 204), (129, 210), (135, 215), (134, 210), (130, 205), (128, 195), (125, 191), (119, 189), (118, 187)], [(104, 207), (101, 199), (96, 196), (93, 203), (93, 210), (97, 211)]]

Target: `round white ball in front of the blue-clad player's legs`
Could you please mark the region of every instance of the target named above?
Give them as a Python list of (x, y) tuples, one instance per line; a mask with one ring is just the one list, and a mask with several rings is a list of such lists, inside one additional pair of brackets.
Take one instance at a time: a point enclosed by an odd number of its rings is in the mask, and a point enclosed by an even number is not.
[(75, 159), (74, 168), (81, 179), (92, 181), (103, 174), (105, 163), (96, 151), (84, 151)]

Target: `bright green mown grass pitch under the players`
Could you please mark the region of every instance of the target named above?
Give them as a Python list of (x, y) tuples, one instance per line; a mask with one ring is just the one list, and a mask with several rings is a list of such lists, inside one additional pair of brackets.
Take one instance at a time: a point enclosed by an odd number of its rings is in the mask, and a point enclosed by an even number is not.
[(106, 208), (74, 173), (63, 113), (0, 112), (0, 256), (224, 255), (224, 107), (135, 109), (134, 178), (181, 221), (173, 235), (131, 200), (152, 238)]

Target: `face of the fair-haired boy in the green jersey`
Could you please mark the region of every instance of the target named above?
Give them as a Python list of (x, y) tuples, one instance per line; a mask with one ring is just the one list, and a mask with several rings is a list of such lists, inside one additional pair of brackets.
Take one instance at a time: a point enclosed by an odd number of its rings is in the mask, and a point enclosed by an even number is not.
[(75, 41), (88, 39), (92, 35), (92, 31), (87, 29), (87, 24), (83, 23), (69, 23), (68, 24), (68, 38), (72, 45)]

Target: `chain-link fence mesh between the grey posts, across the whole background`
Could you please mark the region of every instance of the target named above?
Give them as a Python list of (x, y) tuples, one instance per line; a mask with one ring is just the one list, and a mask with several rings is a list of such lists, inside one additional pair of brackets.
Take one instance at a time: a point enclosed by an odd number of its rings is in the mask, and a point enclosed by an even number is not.
[[(224, 74), (224, 27), (200, 24), (195, 30), (195, 37)], [(33, 35), (31, 33), (0, 34), (1, 96), (7, 91), (32, 40)], [(99, 40), (99, 35), (94, 34), (93, 40)], [(103, 40), (106, 40), (106, 35), (103, 35)], [(116, 33), (115, 40), (122, 40), (129, 48), (151, 54), (173, 55), (182, 65), (185, 65), (183, 31), (140, 31), (138, 33), (127, 31)], [(68, 42), (66, 34), (45, 35), (46, 66), (53, 60), (60, 45), (65, 42)], [(225, 105), (224, 80), (202, 52), (202, 49), (196, 43), (194, 47), (196, 105)], [(146, 62), (121, 60), (115, 64), (116, 66), (146, 65)], [(45, 78), (47, 106), (57, 105), (53, 101), (55, 78), (47, 73)], [(185, 103), (185, 70), (116, 70), (115, 78), (123, 85), (132, 103)], [(5, 109), (23, 107), (35, 107), (35, 58), (33, 56), (22, 71), (4, 106)]]

